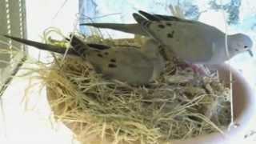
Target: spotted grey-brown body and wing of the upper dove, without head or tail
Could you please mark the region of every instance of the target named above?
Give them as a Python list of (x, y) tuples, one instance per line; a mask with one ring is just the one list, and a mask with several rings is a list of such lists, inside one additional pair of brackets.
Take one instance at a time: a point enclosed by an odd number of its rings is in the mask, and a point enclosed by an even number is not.
[[(202, 22), (139, 12), (150, 19), (149, 21), (139, 14), (133, 14), (134, 19), (142, 26), (143, 30), (146, 30), (150, 37), (173, 50), (178, 58), (182, 58), (186, 62), (210, 62), (214, 52), (218, 49), (215, 42), (224, 36), (214, 26)], [(158, 21), (157, 18), (161, 20)]]

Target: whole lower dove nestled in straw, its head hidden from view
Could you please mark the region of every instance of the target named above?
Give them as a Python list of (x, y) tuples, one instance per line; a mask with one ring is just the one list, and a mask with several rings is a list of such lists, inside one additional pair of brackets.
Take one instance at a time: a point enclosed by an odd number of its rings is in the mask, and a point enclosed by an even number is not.
[[(34, 42), (23, 38), (7, 36), (15, 41), (40, 50), (49, 50), (64, 54), (65, 47)], [(132, 46), (105, 46), (100, 44), (86, 43), (73, 36), (67, 55), (80, 57), (94, 67), (103, 78), (117, 79), (132, 85), (146, 84), (158, 78), (164, 69), (164, 59), (158, 54), (158, 46), (153, 40), (147, 40), (142, 49)]]

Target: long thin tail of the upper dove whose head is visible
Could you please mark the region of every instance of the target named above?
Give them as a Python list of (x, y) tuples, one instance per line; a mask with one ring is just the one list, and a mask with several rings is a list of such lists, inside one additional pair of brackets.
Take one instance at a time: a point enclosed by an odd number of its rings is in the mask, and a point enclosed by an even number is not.
[(140, 34), (146, 35), (146, 33), (142, 30), (142, 27), (137, 24), (121, 24), (121, 23), (82, 23), (80, 26), (94, 26), (97, 28), (103, 29), (111, 29), (111, 30), (119, 30), (122, 32), (130, 33), (130, 34)]

